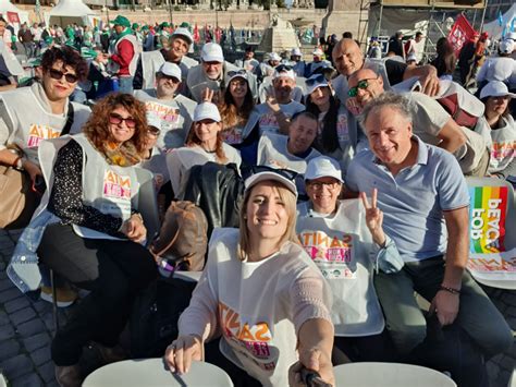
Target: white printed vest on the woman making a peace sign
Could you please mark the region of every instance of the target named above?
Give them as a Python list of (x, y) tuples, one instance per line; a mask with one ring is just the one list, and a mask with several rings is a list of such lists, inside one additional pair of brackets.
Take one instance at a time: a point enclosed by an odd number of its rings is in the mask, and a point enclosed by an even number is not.
[(327, 218), (312, 214), (309, 202), (299, 204), (297, 213), (299, 241), (332, 290), (335, 336), (380, 334), (384, 321), (372, 283), (378, 249), (359, 199), (341, 201)]

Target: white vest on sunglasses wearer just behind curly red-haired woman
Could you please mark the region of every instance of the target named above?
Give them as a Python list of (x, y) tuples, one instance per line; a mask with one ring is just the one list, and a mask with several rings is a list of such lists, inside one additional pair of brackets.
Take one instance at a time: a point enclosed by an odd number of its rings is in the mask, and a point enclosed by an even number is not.
[(157, 146), (161, 149), (184, 146), (197, 104), (182, 95), (175, 96), (174, 99), (158, 99), (156, 90), (135, 90), (134, 96), (145, 102), (147, 114), (153, 114), (161, 120)]

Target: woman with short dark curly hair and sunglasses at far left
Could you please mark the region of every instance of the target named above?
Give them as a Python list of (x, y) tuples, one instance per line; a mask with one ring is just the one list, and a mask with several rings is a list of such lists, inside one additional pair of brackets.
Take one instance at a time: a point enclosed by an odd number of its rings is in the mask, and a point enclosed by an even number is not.
[[(0, 164), (25, 170), (33, 182), (41, 177), (39, 143), (62, 132), (78, 133), (89, 117), (86, 106), (70, 102), (79, 81), (86, 80), (86, 61), (70, 47), (51, 48), (41, 58), (40, 83), (0, 95)], [(66, 124), (67, 121), (72, 123)], [(12, 153), (15, 145), (23, 154)]]

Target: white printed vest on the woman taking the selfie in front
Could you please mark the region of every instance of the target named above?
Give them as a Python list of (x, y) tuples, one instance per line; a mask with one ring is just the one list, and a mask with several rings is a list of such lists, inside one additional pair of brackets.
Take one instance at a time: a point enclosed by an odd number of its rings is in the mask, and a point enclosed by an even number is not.
[[(255, 263), (236, 257), (237, 241), (237, 229), (213, 230), (205, 269), (219, 302), (220, 350), (262, 385), (287, 386), (288, 367), (297, 361), (290, 288), (320, 273), (297, 244), (287, 242)], [(330, 294), (325, 300), (329, 306)]]

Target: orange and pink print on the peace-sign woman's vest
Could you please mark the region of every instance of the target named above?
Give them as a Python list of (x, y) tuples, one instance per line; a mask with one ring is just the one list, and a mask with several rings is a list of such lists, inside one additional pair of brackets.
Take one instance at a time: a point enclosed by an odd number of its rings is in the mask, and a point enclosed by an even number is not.
[(353, 235), (345, 233), (328, 235), (323, 231), (303, 231), (297, 237), (325, 278), (356, 278), (356, 270), (349, 267), (354, 261)]

